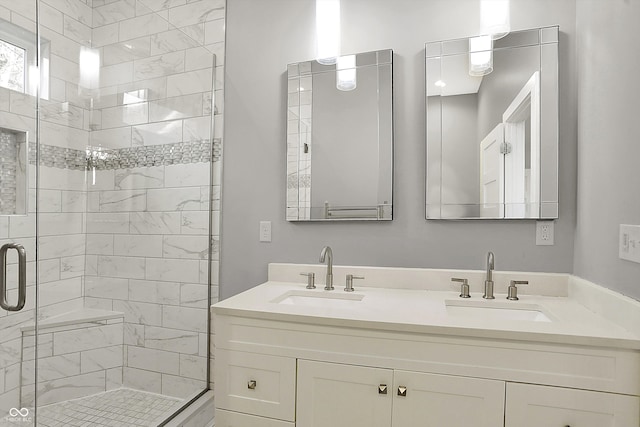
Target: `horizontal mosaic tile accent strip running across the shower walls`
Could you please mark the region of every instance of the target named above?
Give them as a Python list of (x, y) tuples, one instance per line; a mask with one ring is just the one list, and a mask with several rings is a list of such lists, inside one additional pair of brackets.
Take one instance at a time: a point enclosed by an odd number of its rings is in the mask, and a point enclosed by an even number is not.
[[(130, 169), (149, 166), (180, 165), (206, 163), (220, 160), (222, 141), (213, 140), (213, 150), (208, 140), (179, 142), (175, 144), (147, 145), (142, 147), (120, 148), (117, 150), (101, 147), (87, 147), (86, 151), (71, 148), (40, 145), (42, 150), (40, 164), (60, 169), (72, 170), (110, 170)], [(213, 151), (213, 152), (212, 152)], [(29, 163), (36, 163), (36, 149), (29, 150)]]

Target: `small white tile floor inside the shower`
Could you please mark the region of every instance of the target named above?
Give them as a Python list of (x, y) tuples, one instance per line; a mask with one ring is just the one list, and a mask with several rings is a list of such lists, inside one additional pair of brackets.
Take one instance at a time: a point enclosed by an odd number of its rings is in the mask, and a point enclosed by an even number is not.
[[(155, 427), (183, 403), (173, 397), (121, 388), (43, 406), (38, 411), (38, 427)], [(0, 427), (19, 424), (0, 421)]]

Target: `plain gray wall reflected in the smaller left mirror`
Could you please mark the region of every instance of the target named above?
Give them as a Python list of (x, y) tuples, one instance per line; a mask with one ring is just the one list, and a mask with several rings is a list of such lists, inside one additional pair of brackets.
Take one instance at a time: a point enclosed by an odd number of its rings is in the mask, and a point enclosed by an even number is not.
[(336, 73), (313, 76), (311, 207), (378, 204), (378, 69), (357, 70), (357, 87)]

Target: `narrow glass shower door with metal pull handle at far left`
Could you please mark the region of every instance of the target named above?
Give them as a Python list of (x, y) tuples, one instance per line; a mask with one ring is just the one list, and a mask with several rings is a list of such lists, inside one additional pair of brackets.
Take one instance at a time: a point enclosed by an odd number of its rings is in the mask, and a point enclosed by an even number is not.
[(35, 422), (35, 22), (35, 1), (0, 2), (0, 426)]

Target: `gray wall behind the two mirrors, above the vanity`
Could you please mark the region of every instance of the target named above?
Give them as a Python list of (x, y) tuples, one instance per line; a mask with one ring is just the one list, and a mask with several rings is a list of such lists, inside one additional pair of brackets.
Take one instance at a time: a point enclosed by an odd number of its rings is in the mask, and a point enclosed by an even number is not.
[[(635, 1), (635, 0), (634, 0)], [(228, 0), (221, 296), (266, 280), (269, 262), (571, 272), (576, 194), (575, 0), (512, 0), (513, 29), (560, 25), (560, 219), (556, 245), (535, 246), (533, 221), (424, 219), (424, 43), (477, 34), (477, 0), (344, 0), (343, 53), (393, 48), (394, 220), (288, 223), (286, 64), (314, 57), (313, 0)], [(258, 241), (260, 220), (273, 242)]]

